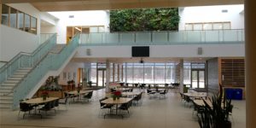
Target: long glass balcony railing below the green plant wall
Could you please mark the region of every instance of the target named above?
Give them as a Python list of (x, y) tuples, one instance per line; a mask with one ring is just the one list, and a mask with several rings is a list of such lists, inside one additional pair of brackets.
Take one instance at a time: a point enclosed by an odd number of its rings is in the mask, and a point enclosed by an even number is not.
[(244, 30), (82, 33), (82, 45), (241, 44)]

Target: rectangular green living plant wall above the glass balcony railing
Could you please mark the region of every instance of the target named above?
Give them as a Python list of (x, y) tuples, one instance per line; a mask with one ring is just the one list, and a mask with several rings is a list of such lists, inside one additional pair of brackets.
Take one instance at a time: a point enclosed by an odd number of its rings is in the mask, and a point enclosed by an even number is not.
[(177, 8), (110, 11), (110, 32), (176, 31)]

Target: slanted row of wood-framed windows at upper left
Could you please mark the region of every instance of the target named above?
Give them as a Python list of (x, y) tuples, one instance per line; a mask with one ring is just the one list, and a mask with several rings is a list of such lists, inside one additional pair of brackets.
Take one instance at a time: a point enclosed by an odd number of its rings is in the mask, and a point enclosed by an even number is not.
[(37, 34), (37, 18), (24, 14), (17, 9), (2, 4), (1, 24), (18, 28), (21, 31)]

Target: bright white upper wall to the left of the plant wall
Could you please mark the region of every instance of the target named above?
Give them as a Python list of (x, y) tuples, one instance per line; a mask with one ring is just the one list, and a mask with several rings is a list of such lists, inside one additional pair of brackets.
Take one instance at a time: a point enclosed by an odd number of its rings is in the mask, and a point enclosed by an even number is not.
[[(60, 19), (56, 25), (58, 44), (66, 44), (67, 26), (105, 26), (105, 31), (109, 32), (108, 11), (67, 11), (49, 14)], [(69, 18), (69, 15), (73, 15), (73, 18)]]

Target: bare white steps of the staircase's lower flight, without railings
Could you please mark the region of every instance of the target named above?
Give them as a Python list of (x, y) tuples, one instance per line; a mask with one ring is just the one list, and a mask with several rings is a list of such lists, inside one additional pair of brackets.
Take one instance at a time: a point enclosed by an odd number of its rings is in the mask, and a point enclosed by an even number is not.
[(13, 104), (13, 96), (12, 92), (13, 88), (16, 84), (23, 79), (27, 73), (30, 72), (32, 67), (23, 67), (18, 69), (14, 75), (9, 77), (7, 80), (0, 85), (0, 108), (11, 108)]

